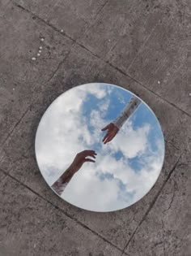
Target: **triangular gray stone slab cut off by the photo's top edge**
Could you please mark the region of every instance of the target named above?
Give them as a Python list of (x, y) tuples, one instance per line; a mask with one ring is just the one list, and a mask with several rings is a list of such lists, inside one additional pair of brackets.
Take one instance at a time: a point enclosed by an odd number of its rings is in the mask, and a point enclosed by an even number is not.
[(38, 15), (56, 28), (63, 29), (63, 33), (74, 39), (83, 35), (86, 28), (104, 6), (104, 2), (106, 0), (15, 0), (15, 3)]

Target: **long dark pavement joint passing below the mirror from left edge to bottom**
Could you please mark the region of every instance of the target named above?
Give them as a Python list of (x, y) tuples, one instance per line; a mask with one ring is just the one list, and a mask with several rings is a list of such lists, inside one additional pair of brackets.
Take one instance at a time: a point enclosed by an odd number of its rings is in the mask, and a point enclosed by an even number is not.
[[(108, 241), (106, 238), (104, 238), (104, 236), (101, 236), (98, 232), (92, 230), (91, 228), (89, 228), (87, 225), (85, 225), (84, 223), (80, 222), (79, 219), (74, 218), (74, 216), (69, 215), (68, 213), (66, 213), (65, 210), (62, 210), (60, 207), (56, 206), (53, 204), (53, 202), (49, 201), (49, 199), (43, 197), (40, 195), (40, 193), (37, 193), (36, 191), (34, 191), (33, 189), (31, 189), (30, 187), (28, 187), (28, 185), (23, 184), (22, 182), (20, 182), (18, 179), (16, 179), (14, 176), (11, 176), (10, 173), (7, 173), (6, 171), (3, 171), (0, 168), (0, 171), (2, 171), (2, 173), (5, 176), (9, 176), (12, 180), (15, 180), (15, 182), (21, 184), (25, 189), (30, 190), (32, 193), (36, 194), (37, 197), (40, 197), (41, 199), (43, 199), (45, 202), (48, 202), (51, 206), (53, 206), (55, 209), (60, 210), (64, 215), (66, 215), (66, 217), (68, 217), (69, 219), (72, 219), (74, 222), (78, 223), (80, 226), (82, 226), (83, 228), (87, 229), (88, 231), (92, 232), (94, 235), (99, 236), (102, 240), (104, 240), (105, 242), (107, 242), (109, 245), (111, 245), (112, 247), (115, 247), (116, 249), (118, 249), (119, 251), (122, 251), (121, 248), (119, 248), (117, 245), (112, 244), (111, 241)], [(4, 179), (3, 179), (4, 180)]]

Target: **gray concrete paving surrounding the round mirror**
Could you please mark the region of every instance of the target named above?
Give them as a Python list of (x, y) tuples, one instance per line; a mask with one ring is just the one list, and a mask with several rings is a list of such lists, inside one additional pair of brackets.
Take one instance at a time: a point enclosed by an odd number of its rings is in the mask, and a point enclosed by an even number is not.
[[(190, 0), (1, 0), (0, 256), (191, 255), (190, 71)], [(90, 82), (141, 97), (166, 143), (150, 193), (105, 214), (57, 197), (34, 153), (49, 104)]]

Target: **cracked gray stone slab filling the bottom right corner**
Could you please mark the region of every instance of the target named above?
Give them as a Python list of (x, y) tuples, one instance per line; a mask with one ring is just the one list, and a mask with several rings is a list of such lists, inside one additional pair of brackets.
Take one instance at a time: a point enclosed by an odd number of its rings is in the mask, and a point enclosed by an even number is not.
[[(191, 151), (190, 151), (191, 152)], [(149, 215), (125, 249), (128, 255), (180, 255), (191, 251), (191, 165), (186, 159), (173, 171)]]

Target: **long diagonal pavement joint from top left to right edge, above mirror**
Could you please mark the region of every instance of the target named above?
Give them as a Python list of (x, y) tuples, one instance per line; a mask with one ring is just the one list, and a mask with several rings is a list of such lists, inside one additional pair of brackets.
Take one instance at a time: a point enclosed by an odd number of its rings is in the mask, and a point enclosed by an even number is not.
[[(69, 38), (71, 41), (73, 41), (76, 45), (81, 46), (84, 50), (87, 50), (90, 54), (92, 54), (93, 56), (95, 56), (97, 59), (100, 59), (103, 63), (108, 64), (110, 67), (114, 68), (117, 70), (117, 72), (120, 72), (122, 75), (129, 77), (130, 79), (134, 80), (136, 83), (138, 83), (138, 85), (142, 85), (142, 87), (144, 87), (145, 89), (147, 89), (148, 91), (150, 91), (151, 93), (153, 93), (155, 96), (161, 98), (164, 102), (168, 102), (169, 105), (175, 107), (177, 110), (183, 112), (185, 115), (189, 116), (189, 118), (191, 118), (191, 115), (189, 115), (189, 113), (187, 113), (186, 111), (182, 110), (180, 107), (176, 106), (174, 103), (169, 102), (166, 98), (161, 97), (158, 93), (155, 93), (153, 90), (149, 89), (148, 87), (146, 87), (146, 85), (143, 85), (141, 82), (139, 82), (138, 80), (134, 79), (132, 76), (129, 76), (126, 72), (122, 71), (121, 68), (119, 67), (115, 67), (112, 63), (109, 63), (108, 61), (101, 59), (97, 54), (94, 54), (93, 52), (91, 52), (91, 50), (88, 50), (87, 47), (83, 46), (82, 44), (80, 44), (78, 41), (74, 40), (74, 38), (70, 37), (69, 35), (67, 35), (66, 33), (61, 33), (60, 29), (56, 28), (55, 26), (53, 26), (52, 24), (47, 23), (45, 20), (43, 20), (42, 18), (40, 18), (38, 15), (32, 13), (32, 11), (29, 11), (28, 9), (20, 6), (19, 4), (15, 3), (15, 6), (22, 9), (23, 11), (27, 11), (29, 14), (33, 15), (36, 17), (36, 19), (40, 20), (41, 22), (45, 23), (47, 26), (49, 26), (50, 28), (52, 28), (53, 30), (57, 31), (57, 33), (62, 34), (63, 36)], [(157, 23), (159, 24), (159, 22)], [(156, 25), (157, 25), (156, 24)], [(155, 26), (156, 27), (156, 26)], [(155, 28), (153, 28), (152, 32), (155, 30)], [(152, 33), (151, 32), (151, 33)], [(78, 38), (79, 39), (79, 38)], [(131, 64), (130, 64), (131, 65)], [(129, 65), (129, 66), (130, 66)], [(129, 67), (128, 67), (129, 68)]]

